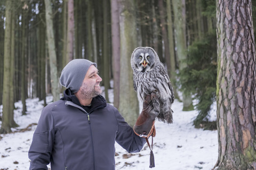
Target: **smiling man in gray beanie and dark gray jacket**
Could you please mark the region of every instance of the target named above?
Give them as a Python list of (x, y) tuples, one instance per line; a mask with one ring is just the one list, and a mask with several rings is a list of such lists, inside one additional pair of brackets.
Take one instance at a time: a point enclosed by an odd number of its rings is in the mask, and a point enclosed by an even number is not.
[[(115, 141), (128, 152), (146, 143), (100, 94), (97, 64), (76, 59), (61, 72), (64, 96), (47, 105), (29, 149), (30, 168), (115, 169)], [(132, 106), (131, 106), (132, 107)], [(151, 111), (150, 111), (151, 112)]]

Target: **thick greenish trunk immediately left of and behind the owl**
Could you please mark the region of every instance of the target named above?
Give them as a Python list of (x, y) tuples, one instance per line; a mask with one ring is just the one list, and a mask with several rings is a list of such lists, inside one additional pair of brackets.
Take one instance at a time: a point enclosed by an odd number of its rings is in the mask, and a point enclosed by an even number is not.
[(120, 55), (122, 71), (120, 72), (119, 111), (127, 123), (134, 125), (139, 116), (139, 103), (133, 88), (133, 75), (131, 69), (131, 54), (137, 47), (137, 30), (135, 23), (134, 2), (130, 0), (120, 3)]

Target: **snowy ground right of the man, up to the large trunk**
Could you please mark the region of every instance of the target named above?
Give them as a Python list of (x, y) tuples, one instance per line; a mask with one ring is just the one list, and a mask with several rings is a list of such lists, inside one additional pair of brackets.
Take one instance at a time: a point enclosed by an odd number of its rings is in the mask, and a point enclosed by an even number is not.
[[(182, 112), (182, 103), (178, 101), (174, 101), (172, 109), (173, 124), (155, 123), (154, 169), (212, 169), (218, 158), (217, 131), (195, 129), (192, 121), (197, 112)], [(128, 159), (123, 158), (125, 152), (119, 148), (117, 146), (116, 169), (150, 169), (147, 145)]]

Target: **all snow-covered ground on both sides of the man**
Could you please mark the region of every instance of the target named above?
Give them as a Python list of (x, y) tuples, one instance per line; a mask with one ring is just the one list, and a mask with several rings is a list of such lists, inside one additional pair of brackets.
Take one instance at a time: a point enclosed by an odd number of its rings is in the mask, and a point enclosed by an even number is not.
[[(51, 101), (47, 97), (47, 102)], [(110, 102), (113, 100), (110, 100)], [(0, 169), (25, 170), (29, 168), (28, 149), (34, 130), (43, 108), (43, 101), (27, 99), (27, 115), (21, 116), (21, 101), (15, 103), (14, 120), (20, 126), (11, 134), (1, 134), (0, 138)], [(182, 103), (174, 101), (173, 124), (156, 121), (156, 137), (153, 152), (155, 170), (211, 169), (218, 158), (217, 131), (195, 129), (193, 119), (197, 111), (183, 112)], [(2, 106), (0, 107), (2, 112)], [(32, 124), (27, 128), (29, 124)], [(1, 125), (1, 121), (0, 121)], [(18, 132), (21, 129), (24, 132)], [(151, 143), (151, 138), (149, 139)], [(116, 143), (116, 169), (143, 170), (149, 168), (150, 150), (147, 146), (141, 152), (127, 153)], [(50, 166), (49, 166), (50, 167)]]

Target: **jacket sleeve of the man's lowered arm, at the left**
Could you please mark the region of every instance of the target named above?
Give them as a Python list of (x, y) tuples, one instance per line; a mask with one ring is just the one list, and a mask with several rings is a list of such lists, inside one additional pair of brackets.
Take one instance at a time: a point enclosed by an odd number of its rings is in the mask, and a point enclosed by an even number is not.
[(33, 135), (28, 157), (31, 160), (30, 170), (48, 169), (54, 142), (54, 120), (51, 107), (46, 106), (39, 118)]

